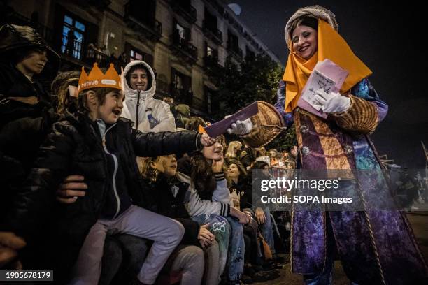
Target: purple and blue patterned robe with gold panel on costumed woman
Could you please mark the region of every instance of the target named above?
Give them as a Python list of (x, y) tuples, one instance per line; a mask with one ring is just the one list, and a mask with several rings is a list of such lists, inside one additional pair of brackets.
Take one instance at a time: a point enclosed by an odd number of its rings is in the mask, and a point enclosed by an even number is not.
[[(387, 114), (369, 80), (350, 90), (351, 107), (345, 114), (324, 120), (300, 108), (285, 113), (285, 82), (280, 82), (275, 104), (290, 126), (296, 127), (299, 168), (308, 170), (380, 170), (367, 133)], [(373, 171), (373, 173), (379, 173)], [(356, 191), (366, 203), (392, 199), (380, 175), (358, 180)], [(428, 284), (427, 265), (411, 226), (397, 210), (292, 211), (292, 272), (320, 274), (327, 258), (327, 221), (343, 268), (357, 284)], [(373, 205), (372, 205), (373, 206)]]

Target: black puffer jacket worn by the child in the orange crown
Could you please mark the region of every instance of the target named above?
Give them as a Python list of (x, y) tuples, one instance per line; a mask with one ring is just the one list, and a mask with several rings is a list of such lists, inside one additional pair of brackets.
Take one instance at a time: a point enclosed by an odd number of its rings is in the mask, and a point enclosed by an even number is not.
[[(199, 146), (194, 131), (177, 133), (141, 133), (131, 128), (131, 121), (120, 118), (111, 130), (118, 155), (124, 167), (129, 196), (139, 205), (155, 205), (143, 187), (136, 155), (162, 156), (191, 152)], [(55, 191), (66, 175), (84, 175), (86, 195), (70, 205), (57, 205)], [(57, 276), (63, 277), (78, 256), (80, 247), (92, 225), (99, 219), (110, 189), (106, 154), (99, 131), (84, 113), (67, 115), (66, 121), (54, 125), (54, 131), (41, 146), (35, 168), (31, 169), (19, 193), (15, 211), (8, 217), (7, 229), (31, 240), (45, 217), (55, 217), (55, 258)], [(56, 209), (55, 209), (56, 208)], [(151, 209), (149, 209), (151, 210)], [(55, 246), (55, 245), (53, 245)], [(64, 271), (62, 271), (64, 270)], [(62, 275), (62, 276), (61, 276)]]

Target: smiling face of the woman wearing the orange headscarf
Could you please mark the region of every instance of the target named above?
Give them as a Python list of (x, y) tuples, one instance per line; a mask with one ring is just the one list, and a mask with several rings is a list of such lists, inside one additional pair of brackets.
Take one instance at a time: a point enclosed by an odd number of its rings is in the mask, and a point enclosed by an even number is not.
[(299, 25), (292, 34), (294, 52), (302, 59), (310, 59), (318, 50), (318, 32), (308, 26)]

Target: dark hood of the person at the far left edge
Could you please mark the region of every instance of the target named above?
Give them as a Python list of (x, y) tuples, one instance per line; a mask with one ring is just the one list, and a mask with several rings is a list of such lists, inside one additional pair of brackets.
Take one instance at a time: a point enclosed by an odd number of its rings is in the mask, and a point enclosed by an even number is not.
[(59, 68), (59, 55), (52, 50), (52, 47), (31, 27), (18, 26), (15, 24), (4, 24), (0, 27), (0, 57), (10, 58), (8, 54), (15, 50), (27, 49), (31, 47), (42, 48), (48, 52), (48, 63), (41, 74), (55, 77)]

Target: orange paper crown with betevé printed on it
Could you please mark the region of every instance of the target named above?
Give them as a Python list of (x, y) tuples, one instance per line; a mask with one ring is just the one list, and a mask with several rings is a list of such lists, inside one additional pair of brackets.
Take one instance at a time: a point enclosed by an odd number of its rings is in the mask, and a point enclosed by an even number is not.
[(94, 67), (89, 75), (86, 73), (85, 68), (82, 67), (82, 73), (80, 74), (79, 84), (78, 84), (78, 94), (90, 88), (115, 88), (122, 90), (122, 84), (120, 82), (120, 75), (117, 74), (115, 66), (110, 64), (110, 67), (104, 74), (98, 67), (97, 63), (94, 63)]

